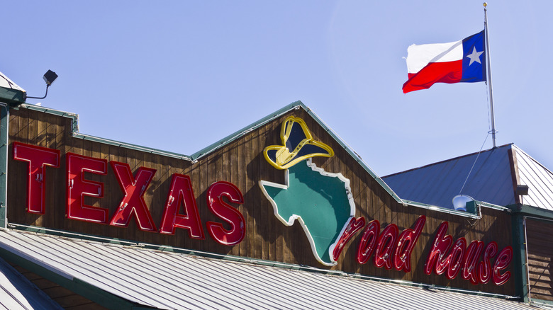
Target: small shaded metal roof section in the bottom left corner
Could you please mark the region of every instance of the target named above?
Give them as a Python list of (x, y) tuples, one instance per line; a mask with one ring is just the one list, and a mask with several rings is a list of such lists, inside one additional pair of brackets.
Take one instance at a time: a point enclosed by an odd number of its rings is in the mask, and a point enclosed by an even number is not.
[(0, 258), (0, 309), (63, 309)]

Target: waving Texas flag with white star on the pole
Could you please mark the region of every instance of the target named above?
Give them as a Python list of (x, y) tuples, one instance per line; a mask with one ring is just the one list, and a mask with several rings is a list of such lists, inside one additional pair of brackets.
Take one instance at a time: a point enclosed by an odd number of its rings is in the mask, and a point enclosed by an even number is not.
[(486, 81), (484, 30), (457, 42), (411, 45), (407, 49), (407, 74), (403, 93), (435, 83)]

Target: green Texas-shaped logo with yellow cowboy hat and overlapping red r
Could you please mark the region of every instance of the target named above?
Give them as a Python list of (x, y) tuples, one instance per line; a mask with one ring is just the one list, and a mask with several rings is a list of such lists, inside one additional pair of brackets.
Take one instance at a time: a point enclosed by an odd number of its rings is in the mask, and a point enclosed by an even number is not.
[(314, 156), (332, 157), (334, 151), (313, 140), (301, 118), (287, 117), (280, 135), (282, 145), (266, 147), (263, 153), (274, 168), (286, 170), (285, 183), (260, 180), (259, 186), (284, 225), (300, 222), (315, 258), (336, 265), (347, 240), (364, 226), (364, 218), (354, 218), (350, 180), (311, 161)]

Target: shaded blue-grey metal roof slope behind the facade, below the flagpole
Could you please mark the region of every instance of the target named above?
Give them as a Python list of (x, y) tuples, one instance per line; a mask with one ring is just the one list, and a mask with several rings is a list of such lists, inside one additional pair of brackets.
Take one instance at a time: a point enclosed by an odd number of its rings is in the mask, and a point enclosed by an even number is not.
[(459, 194), (494, 205), (512, 205), (515, 195), (508, 154), (510, 147), (508, 144), (382, 179), (402, 199), (428, 205), (453, 209), (452, 199)]

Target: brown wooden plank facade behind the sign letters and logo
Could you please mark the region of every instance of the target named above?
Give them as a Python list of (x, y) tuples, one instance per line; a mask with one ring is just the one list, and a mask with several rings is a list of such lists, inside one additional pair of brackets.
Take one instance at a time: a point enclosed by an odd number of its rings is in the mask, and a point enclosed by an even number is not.
[[(264, 195), (262, 186), (259, 185), (260, 180), (286, 183), (286, 169), (279, 170), (271, 166), (264, 157), (264, 149), (268, 146), (283, 144), (282, 127), (289, 117), (303, 120), (312, 134), (313, 141), (323, 142), (333, 149), (333, 156), (313, 156), (310, 160), (324, 171), (341, 173), (349, 180), (355, 208), (353, 218), (364, 219), (364, 225), (354, 230), (352, 236), (346, 240), (340, 256), (335, 259), (335, 265), (325, 265), (318, 261), (314, 255), (312, 242), (299, 221), (294, 222), (292, 226), (286, 226), (277, 219), (272, 203)], [(196, 154), (195, 158), (194, 156), (164, 154), (161, 151), (125, 144), (118, 145), (118, 142), (103, 142), (102, 139), (75, 134), (75, 122), (72, 115), (51, 113), (47, 109), (28, 106), (11, 110), (9, 116), (9, 184), (7, 188), (9, 224), (23, 229), (72, 231), (84, 235), (104, 236), (111, 239), (186, 248), (193, 251), (257, 260), (309, 265), (341, 270), (355, 275), (404, 280), (475, 292), (505, 296), (517, 294), (513, 277), (518, 272), (517, 266), (510, 262), (512, 256), (508, 257), (505, 253), (501, 256), (501, 259), (505, 260), (504, 265), (500, 264), (497, 269), (498, 275), (503, 279), (507, 278), (501, 285), (494, 283), (491, 276), (487, 278), (486, 283), (476, 280), (476, 284), (465, 280), (462, 276), (462, 265), (465, 264), (463, 256), (467, 253), (467, 246), (472, 241), (481, 241), (482, 249), (479, 256), (474, 258), (474, 263), (471, 266), (479, 268), (481, 265), (481, 268), (486, 268), (486, 266), (492, 268), (488, 272), (493, 272), (493, 266), (498, 260), (499, 253), (502, 250), (509, 251), (508, 248), (512, 246), (510, 236), (513, 234), (513, 226), (507, 208), (482, 205), (476, 208), (474, 214), (463, 214), (463, 212), (440, 210), (436, 207), (401, 200), (362, 161), (352, 156), (352, 152), (342, 144), (340, 139), (337, 139), (301, 103), (279, 110), (274, 116), (245, 128), (233, 137), (223, 139), (222, 142), (218, 142), (218, 145), (213, 145), (211, 149)], [(25, 147), (38, 147), (38, 151), (41, 150), (40, 148), (48, 151), (54, 150), (52, 152), (59, 154), (59, 163), (57, 166), (41, 166), (44, 173), (38, 177), (41, 178), (40, 180), (37, 180), (36, 176), (30, 178), (30, 166), (32, 165), (23, 158), (24, 156), (21, 156), (20, 159), (18, 150), (16, 150)], [(82, 202), (80, 202), (82, 205), (78, 207), (103, 209), (107, 214), (106, 221), (99, 223), (97, 220), (68, 216), (69, 208), (75, 205), (69, 206), (71, 202), (68, 201), (71, 198), (68, 197), (67, 188), (74, 185), (69, 174), (77, 173), (70, 171), (73, 168), (69, 167), (69, 157), (94, 159), (104, 166), (101, 171), (94, 172), (92, 171), (94, 169), (86, 164), (75, 165), (81, 169), (77, 172), (82, 173), (75, 176), (74, 179), (81, 178), (79, 181), (84, 184), (83, 188), (88, 186), (87, 190), (78, 193), (82, 197)], [(113, 221), (112, 217), (115, 217), (116, 214), (121, 215), (118, 212), (123, 207), (122, 202), (125, 199), (123, 185), (116, 176), (115, 163), (128, 165), (128, 168), (123, 171), (130, 172), (134, 176), (130, 178), (133, 181), (139, 180), (140, 169), (155, 171), (150, 182), (142, 183), (143, 187), (145, 186), (143, 201), (151, 214), (152, 224), (155, 226), (150, 231), (138, 226), (138, 216), (133, 213), (125, 216), (126, 223), (109, 224), (110, 219)], [(167, 231), (161, 232), (164, 219), (169, 219), (164, 214), (169, 200), (171, 197), (177, 197), (174, 194), (171, 196), (174, 189), (174, 176), (188, 177), (189, 189), (192, 192), (190, 197), (194, 200), (194, 203), (191, 204), (186, 200), (186, 194), (184, 194), (181, 197), (180, 205), (177, 206), (179, 209), (176, 217), (184, 218), (186, 219), (184, 222), (191, 223), (194, 222), (191, 220), (194, 214), (191, 213), (197, 212), (197, 216), (194, 217), (199, 219), (201, 234), (194, 233), (194, 229), (186, 226), (187, 224), (175, 226), (173, 234), (167, 233)], [(28, 207), (25, 207), (28, 205), (26, 191), (30, 190), (28, 183), (32, 182), (40, 183), (45, 187), (42, 213), (29, 212)], [(238, 188), (242, 194), (242, 200), (233, 202), (228, 196), (225, 196), (223, 201), (238, 210), (243, 217), (243, 222), (225, 220), (213, 212), (213, 209), (210, 209), (208, 206), (209, 192), (211, 185), (216, 183), (230, 183)], [(99, 190), (97, 193), (99, 195), (94, 193), (95, 190)], [(135, 198), (138, 198), (138, 195), (135, 195)], [(393, 257), (390, 259), (386, 256), (396, 254), (399, 236), (393, 236), (393, 234), (386, 238), (382, 234), (371, 236), (365, 227), (368, 227), (369, 222), (376, 220), (379, 222), (378, 233), (384, 231), (388, 226), (397, 226), (396, 234), (401, 234), (406, 229), (415, 229), (415, 224), (421, 217), (425, 221), (418, 240), (411, 241), (414, 244), (409, 252), (405, 248), (402, 252), (403, 254), (408, 253), (409, 257), (403, 257), (403, 260), (409, 260), (410, 270), (406, 271), (406, 268), (398, 270), (393, 266)], [(174, 219), (174, 217), (170, 217), (170, 219)], [(437, 234), (440, 227), (443, 228), (442, 223), (444, 222), (447, 222), (447, 226), (442, 231), (443, 234), (440, 237), (442, 239), (438, 241)], [(239, 242), (233, 241), (233, 244), (225, 244), (225, 242), (221, 242), (221, 238), (216, 239), (211, 236), (211, 233), (208, 234), (210, 229), (208, 225), (213, 227), (213, 224), (219, 224), (223, 228), (221, 230), (223, 234), (233, 229), (236, 230), (235, 226), (237, 225), (243, 225), (244, 236)], [(388, 231), (393, 230), (388, 229)], [(384, 244), (380, 248), (378, 243), (374, 245), (372, 254), (369, 254), (370, 257), (360, 263), (359, 247), (369, 248), (367, 242), (362, 245), (364, 236), (366, 236), (365, 241), (373, 238), (374, 242), (381, 241)], [(454, 250), (454, 244), (457, 244), (455, 241), (461, 239), (463, 243), (459, 243), (457, 250)], [(435, 243), (440, 242), (442, 242), (442, 246), (445, 246), (441, 252), (434, 248)], [(495, 250), (489, 250), (490, 253), (493, 252), (493, 256), (484, 258), (483, 249), (491, 243), (496, 244)], [(376, 251), (377, 248), (379, 248), (379, 253)], [(432, 251), (437, 256), (433, 264), (438, 267), (436, 267), (437, 270), (430, 268), (430, 274), (428, 274), (425, 272), (425, 268)], [(512, 249), (510, 253), (512, 253)], [(379, 256), (380, 261), (383, 262), (380, 266), (375, 263), (376, 256)], [(448, 257), (450, 262), (446, 261)], [(392, 265), (386, 265), (390, 262)], [(470, 262), (467, 263), (467, 266), (469, 265)], [(448, 268), (452, 270), (451, 274), (455, 275), (454, 277), (447, 276)], [(438, 272), (440, 274), (437, 274)]]

